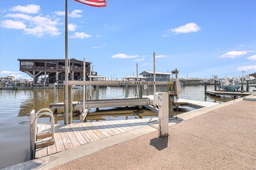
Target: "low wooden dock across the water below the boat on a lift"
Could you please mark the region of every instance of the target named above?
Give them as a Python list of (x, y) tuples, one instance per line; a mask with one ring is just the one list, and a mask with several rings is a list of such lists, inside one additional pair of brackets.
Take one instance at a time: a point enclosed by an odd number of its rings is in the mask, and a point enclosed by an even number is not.
[(251, 94), (255, 94), (253, 92), (244, 92), (244, 91), (242, 91), (242, 92), (241, 91), (230, 92), (230, 91), (224, 91), (224, 90), (215, 91), (213, 89), (206, 90), (205, 93), (210, 94), (212, 96), (220, 96), (220, 95), (225, 95), (225, 96), (249, 96)]

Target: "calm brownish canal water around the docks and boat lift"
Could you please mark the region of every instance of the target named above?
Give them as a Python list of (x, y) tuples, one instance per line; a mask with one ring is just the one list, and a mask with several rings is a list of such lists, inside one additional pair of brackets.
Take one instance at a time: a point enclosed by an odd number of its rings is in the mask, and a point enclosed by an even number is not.
[[(213, 85), (209, 85), (208, 89), (214, 89)], [(123, 98), (125, 97), (125, 87), (106, 87), (100, 88), (99, 98)], [(156, 87), (157, 92), (164, 92), (165, 87)], [(35, 109), (38, 111), (42, 108), (49, 108), (50, 103), (54, 103), (54, 90), (0, 90), (0, 169), (12, 166), (21, 162), (30, 160), (30, 111)], [(150, 94), (153, 94), (154, 88), (150, 87)], [(135, 96), (136, 87), (129, 89), (129, 97)], [(89, 96), (88, 90), (88, 96)], [(146, 95), (146, 91), (143, 92)], [(74, 101), (82, 100), (83, 94), (81, 89), (73, 91)], [(208, 102), (223, 103), (234, 98), (227, 96), (213, 97), (204, 94), (204, 85), (184, 86), (182, 94), (179, 98), (200, 100)], [(95, 99), (95, 90), (92, 89), (92, 99)], [(58, 89), (58, 102), (64, 101), (63, 89)], [(111, 109), (111, 108), (107, 108)], [(58, 110), (61, 112), (61, 110)], [(92, 109), (91, 111), (95, 111)], [(104, 120), (120, 120), (135, 119), (157, 116), (152, 111), (137, 111), (131, 109), (111, 110), (108, 114), (101, 111), (101, 115), (88, 115), (87, 121), (104, 121)], [(115, 113), (115, 115), (113, 115)], [(104, 114), (104, 115), (102, 115)], [(64, 124), (64, 116), (62, 113), (54, 114), (55, 124)], [(49, 121), (49, 117), (39, 118), (38, 123)], [(79, 115), (74, 114), (73, 123), (80, 123)]]

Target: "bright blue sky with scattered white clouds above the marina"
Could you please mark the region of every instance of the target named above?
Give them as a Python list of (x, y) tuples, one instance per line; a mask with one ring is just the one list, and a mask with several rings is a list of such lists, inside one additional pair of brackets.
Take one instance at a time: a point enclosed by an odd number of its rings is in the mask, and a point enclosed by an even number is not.
[[(0, 76), (29, 78), (17, 59), (65, 59), (65, 0), (0, 1)], [(256, 72), (255, 0), (68, 0), (68, 58), (121, 79), (153, 71), (212, 78)]]

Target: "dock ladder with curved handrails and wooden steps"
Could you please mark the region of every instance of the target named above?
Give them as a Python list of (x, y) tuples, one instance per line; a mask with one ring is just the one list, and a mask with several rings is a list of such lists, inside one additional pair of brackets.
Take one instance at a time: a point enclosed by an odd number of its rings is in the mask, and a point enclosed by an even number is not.
[[(47, 111), (47, 112), (43, 112)], [(41, 132), (38, 128), (37, 119), (43, 115), (50, 116), (51, 130)], [(46, 139), (52, 137), (51, 139)], [(36, 149), (54, 145), (54, 116), (50, 109), (40, 109), (35, 113), (33, 109), (30, 112), (30, 160), (35, 158)]]

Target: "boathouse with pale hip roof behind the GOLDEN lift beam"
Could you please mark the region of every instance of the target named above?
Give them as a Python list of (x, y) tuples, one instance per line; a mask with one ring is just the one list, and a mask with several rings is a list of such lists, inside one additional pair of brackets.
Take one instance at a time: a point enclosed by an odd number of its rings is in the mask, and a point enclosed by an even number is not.
[[(174, 74), (169, 72), (155, 72), (157, 82), (168, 82), (170, 81), (170, 76), (173, 77)], [(143, 77), (147, 78), (146, 81), (154, 81), (154, 72), (153, 71), (143, 71), (140, 73)]]

